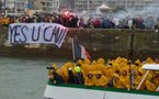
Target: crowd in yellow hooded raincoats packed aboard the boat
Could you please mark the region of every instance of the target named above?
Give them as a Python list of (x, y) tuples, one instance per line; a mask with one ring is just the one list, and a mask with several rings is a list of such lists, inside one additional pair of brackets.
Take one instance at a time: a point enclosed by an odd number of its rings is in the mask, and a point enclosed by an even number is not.
[[(77, 63), (68, 62), (58, 68), (56, 64), (47, 67), (49, 81), (53, 84), (77, 84), (84, 86), (113, 87), (136, 89), (146, 70), (144, 64), (159, 64), (158, 59), (148, 57), (146, 61), (136, 59), (134, 63), (124, 57), (105, 62), (103, 58), (90, 62), (79, 59)], [(155, 91), (159, 86), (159, 72), (151, 70), (140, 90)]]

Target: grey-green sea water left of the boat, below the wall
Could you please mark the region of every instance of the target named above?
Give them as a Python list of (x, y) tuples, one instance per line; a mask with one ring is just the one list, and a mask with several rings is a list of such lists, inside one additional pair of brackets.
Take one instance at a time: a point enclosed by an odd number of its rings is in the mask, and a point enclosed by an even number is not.
[(66, 59), (0, 57), (0, 99), (42, 99), (47, 84), (47, 66)]

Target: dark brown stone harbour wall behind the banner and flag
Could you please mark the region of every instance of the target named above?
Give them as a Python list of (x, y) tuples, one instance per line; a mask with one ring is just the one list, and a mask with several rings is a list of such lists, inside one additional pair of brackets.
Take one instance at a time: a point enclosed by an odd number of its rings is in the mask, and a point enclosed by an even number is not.
[(63, 56), (71, 58), (71, 43), (69, 40), (70, 37), (78, 37), (94, 59), (117, 56), (129, 58), (159, 57), (159, 33), (155, 33), (155, 31), (69, 29), (61, 48), (45, 44), (26, 48), (24, 45), (8, 47), (8, 44), (4, 44), (8, 40), (8, 28), (0, 28), (0, 55), (4, 56)]

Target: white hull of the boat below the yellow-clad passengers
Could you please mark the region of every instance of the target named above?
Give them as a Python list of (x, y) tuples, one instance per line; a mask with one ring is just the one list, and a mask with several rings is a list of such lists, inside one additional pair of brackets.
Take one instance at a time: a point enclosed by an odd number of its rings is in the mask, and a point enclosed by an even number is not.
[(47, 85), (44, 99), (159, 99), (159, 92), (156, 94)]

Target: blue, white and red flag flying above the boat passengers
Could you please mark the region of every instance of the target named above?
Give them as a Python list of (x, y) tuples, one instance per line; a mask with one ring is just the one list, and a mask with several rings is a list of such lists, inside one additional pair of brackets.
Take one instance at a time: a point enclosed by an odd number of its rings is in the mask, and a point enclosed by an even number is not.
[(72, 53), (73, 53), (73, 59), (91, 59), (90, 54), (86, 50), (86, 47), (78, 43), (78, 41), (72, 40)]

